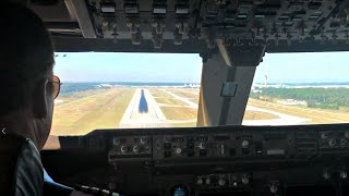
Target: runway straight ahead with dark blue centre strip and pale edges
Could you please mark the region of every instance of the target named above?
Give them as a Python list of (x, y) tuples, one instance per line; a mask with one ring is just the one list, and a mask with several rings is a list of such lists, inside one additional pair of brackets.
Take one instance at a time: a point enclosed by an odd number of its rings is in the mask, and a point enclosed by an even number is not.
[(141, 88), (135, 90), (119, 124), (120, 128), (168, 126), (167, 119), (151, 91)]

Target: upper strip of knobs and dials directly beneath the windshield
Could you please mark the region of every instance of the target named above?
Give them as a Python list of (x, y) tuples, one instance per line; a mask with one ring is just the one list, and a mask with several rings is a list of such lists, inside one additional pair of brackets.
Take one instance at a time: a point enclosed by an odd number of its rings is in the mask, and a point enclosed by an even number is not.
[[(170, 131), (170, 132), (169, 132)], [(132, 130), (119, 131), (123, 134)], [(137, 133), (141, 134), (141, 133)], [(215, 161), (299, 160), (349, 150), (349, 130), (308, 127), (203, 127), (153, 130), (149, 135), (110, 136), (109, 162), (152, 160), (155, 166)]]

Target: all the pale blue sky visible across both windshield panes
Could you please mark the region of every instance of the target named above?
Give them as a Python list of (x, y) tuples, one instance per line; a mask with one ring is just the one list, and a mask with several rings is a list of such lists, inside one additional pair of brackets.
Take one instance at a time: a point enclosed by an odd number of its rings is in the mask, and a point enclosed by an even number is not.
[[(62, 82), (200, 83), (198, 54), (57, 52)], [(349, 52), (266, 53), (254, 82), (349, 82)]]

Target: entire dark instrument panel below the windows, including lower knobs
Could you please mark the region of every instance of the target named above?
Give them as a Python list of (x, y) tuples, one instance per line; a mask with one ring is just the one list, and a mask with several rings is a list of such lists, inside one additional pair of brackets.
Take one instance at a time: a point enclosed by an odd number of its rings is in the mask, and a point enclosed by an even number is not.
[(303, 186), (332, 195), (323, 188), (348, 185), (349, 124), (99, 130), (60, 140), (108, 162), (94, 182), (85, 174), (68, 183), (128, 195), (279, 195)]

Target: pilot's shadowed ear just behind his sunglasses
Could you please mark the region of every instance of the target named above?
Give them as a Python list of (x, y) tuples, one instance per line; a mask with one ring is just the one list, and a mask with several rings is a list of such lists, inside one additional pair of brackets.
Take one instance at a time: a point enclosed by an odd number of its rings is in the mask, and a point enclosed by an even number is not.
[(47, 115), (47, 102), (46, 102), (46, 87), (47, 82), (43, 81), (34, 88), (34, 95), (32, 99), (33, 113), (35, 118), (43, 119)]

